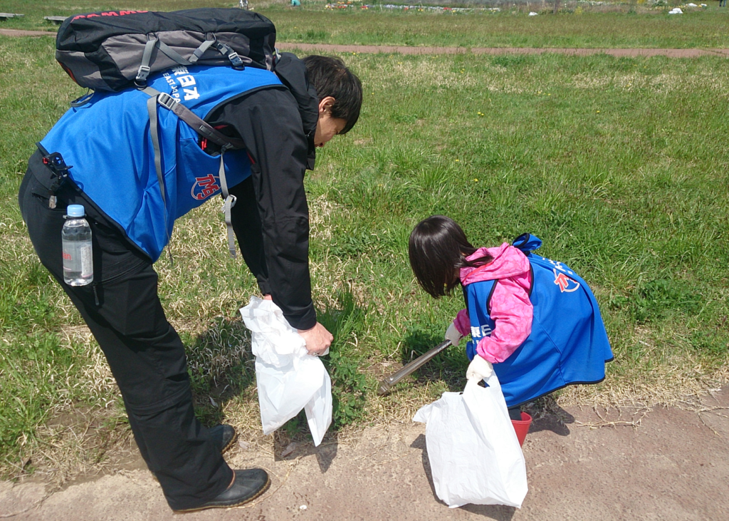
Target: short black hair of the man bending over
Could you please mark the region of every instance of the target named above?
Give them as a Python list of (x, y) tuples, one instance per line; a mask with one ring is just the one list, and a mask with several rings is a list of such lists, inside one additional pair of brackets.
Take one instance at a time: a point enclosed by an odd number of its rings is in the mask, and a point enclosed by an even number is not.
[(311, 55), (303, 59), (311, 85), (316, 89), (319, 101), (332, 96), (332, 117), (347, 122), (340, 134), (346, 134), (359, 119), (362, 108), (362, 82), (339, 58)]

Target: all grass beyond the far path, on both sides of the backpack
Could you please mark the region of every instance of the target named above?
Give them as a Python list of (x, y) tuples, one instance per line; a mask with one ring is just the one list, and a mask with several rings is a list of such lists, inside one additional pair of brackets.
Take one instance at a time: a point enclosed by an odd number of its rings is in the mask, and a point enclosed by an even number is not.
[[(707, 9), (687, 8), (685, 15), (679, 16), (668, 15), (670, 7), (649, 8), (645, 3), (638, 12), (631, 11), (636, 5), (628, 2), (596, 7), (563, 2), (566, 7), (558, 15), (550, 14), (550, 5), (545, 9), (539, 3), (519, 7), (506, 4), (498, 13), (461, 15), (376, 7), (327, 10), (324, 1), (311, 1), (292, 9), (286, 7), (287, 3), (276, 0), (252, 4), (275, 21), (279, 42), (445, 47), (729, 47), (729, 33), (725, 30), (729, 12), (713, 1)], [(122, 7), (172, 10), (235, 5), (235, 1), (128, 0)], [(30, 0), (6, 0), (2, 7), (5, 12), (26, 16), (2, 22), (0, 28), (52, 31), (56, 26), (44, 20), (44, 16), (119, 8), (119, 4), (98, 1), (56, 1), (46, 6)], [(543, 16), (526, 15), (529, 10), (541, 9), (545, 9)]]

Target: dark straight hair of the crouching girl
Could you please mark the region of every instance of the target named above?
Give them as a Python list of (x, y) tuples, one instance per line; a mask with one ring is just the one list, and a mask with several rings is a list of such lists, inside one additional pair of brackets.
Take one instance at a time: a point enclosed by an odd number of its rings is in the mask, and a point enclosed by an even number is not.
[(418, 284), (434, 298), (450, 294), (459, 285), (459, 270), (483, 266), (493, 260), (490, 255), (467, 261), (476, 252), (461, 227), (445, 215), (421, 220), (410, 234), (408, 255)]

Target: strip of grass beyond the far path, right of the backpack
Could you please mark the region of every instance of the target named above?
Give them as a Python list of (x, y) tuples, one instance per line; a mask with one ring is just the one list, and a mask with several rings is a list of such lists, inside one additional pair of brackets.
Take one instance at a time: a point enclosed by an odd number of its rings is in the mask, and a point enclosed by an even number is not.
[[(539, 10), (539, 7), (534, 7)], [(443, 47), (729, 47), (729, 15), (718, 9), (529, 17), (526, 12), (447, 15), (431, 12), (270, 12), (281, 42)]]

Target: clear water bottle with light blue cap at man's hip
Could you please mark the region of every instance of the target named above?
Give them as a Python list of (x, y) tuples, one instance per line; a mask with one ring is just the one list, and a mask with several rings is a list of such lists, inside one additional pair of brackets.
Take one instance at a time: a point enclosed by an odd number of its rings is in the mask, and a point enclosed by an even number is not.
[(85, 286), (93, 282), (91, 228), (81, 204), (69, 204), (66, 223), (61, 230), (63, 243), (63, 280), (69, 286)]

